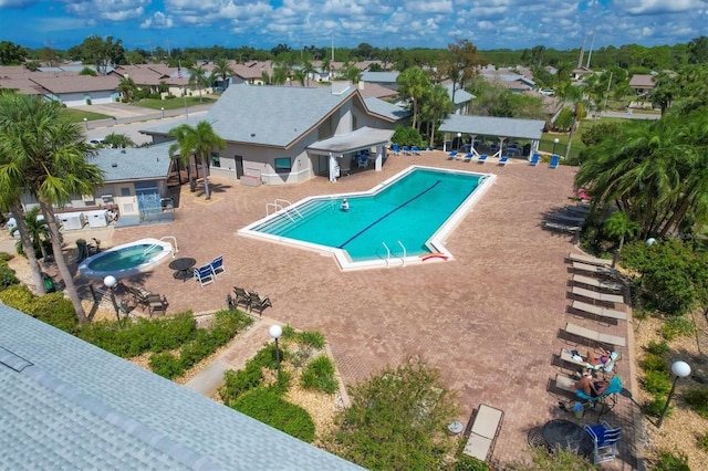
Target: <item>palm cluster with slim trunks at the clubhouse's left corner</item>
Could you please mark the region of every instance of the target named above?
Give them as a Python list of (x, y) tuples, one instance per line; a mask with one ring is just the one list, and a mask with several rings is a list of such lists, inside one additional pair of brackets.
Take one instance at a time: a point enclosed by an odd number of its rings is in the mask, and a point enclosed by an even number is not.
[[(188, 124), (179, 125), (169, 130), (169, 134), (175, 136), (177, 143), (169, 146), (169, 156), (179, 151), (183, 160), (186, 165), (189, 165), (189, 157), (194, 154), (195, 158), (199, 158), (201, 161), (201, 175), (204, 176), (204, 192), (205, 198), (210, 199), (209, 180), (207, 178), (207, 171), (209, 168), (209, 157), (214, 149), (223, 150), (226, 148), (226, 142), (214, 132), (211, 125), (206, 121), (200, 121), (197, 126), (191, 127)], [(191, 175), (190, 187), (192, 186)]]

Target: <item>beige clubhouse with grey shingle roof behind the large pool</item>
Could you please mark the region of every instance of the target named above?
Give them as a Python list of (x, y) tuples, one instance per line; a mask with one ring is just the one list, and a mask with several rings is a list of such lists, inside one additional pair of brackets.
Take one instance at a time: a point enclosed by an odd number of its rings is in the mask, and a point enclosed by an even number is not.
[[(298, 184), (316, 175), (335, 181), (343, 159), (362, 150), (372, 153), (381, 170), (385, 146), (404, 118), (369, 109), (348, 82), (329, 87), (232, 85), (204, 118), (227, 143), (223, 151), (212, 154), (209, 171), (243, 185)], [(186, 123), (197, 122), (190, 117)], [(173, 139), (168, 133), (175, 126), (142, 133), (164, 143)]]

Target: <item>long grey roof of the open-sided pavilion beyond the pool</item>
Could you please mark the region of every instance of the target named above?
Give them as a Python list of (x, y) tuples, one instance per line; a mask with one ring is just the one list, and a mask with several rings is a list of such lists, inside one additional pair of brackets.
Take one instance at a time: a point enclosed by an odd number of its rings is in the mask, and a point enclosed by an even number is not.
[(545, 126), (545, 122), (541, 119), (448, 115), (440, 124), (439, 130), (442, 133), (540, 139), (543, 126)]

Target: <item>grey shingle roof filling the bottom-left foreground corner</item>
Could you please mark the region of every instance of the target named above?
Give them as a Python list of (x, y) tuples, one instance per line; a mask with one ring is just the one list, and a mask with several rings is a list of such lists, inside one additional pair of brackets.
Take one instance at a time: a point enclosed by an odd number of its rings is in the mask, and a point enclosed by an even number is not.
[(0, 304), (0, 463), (360, 469)]

